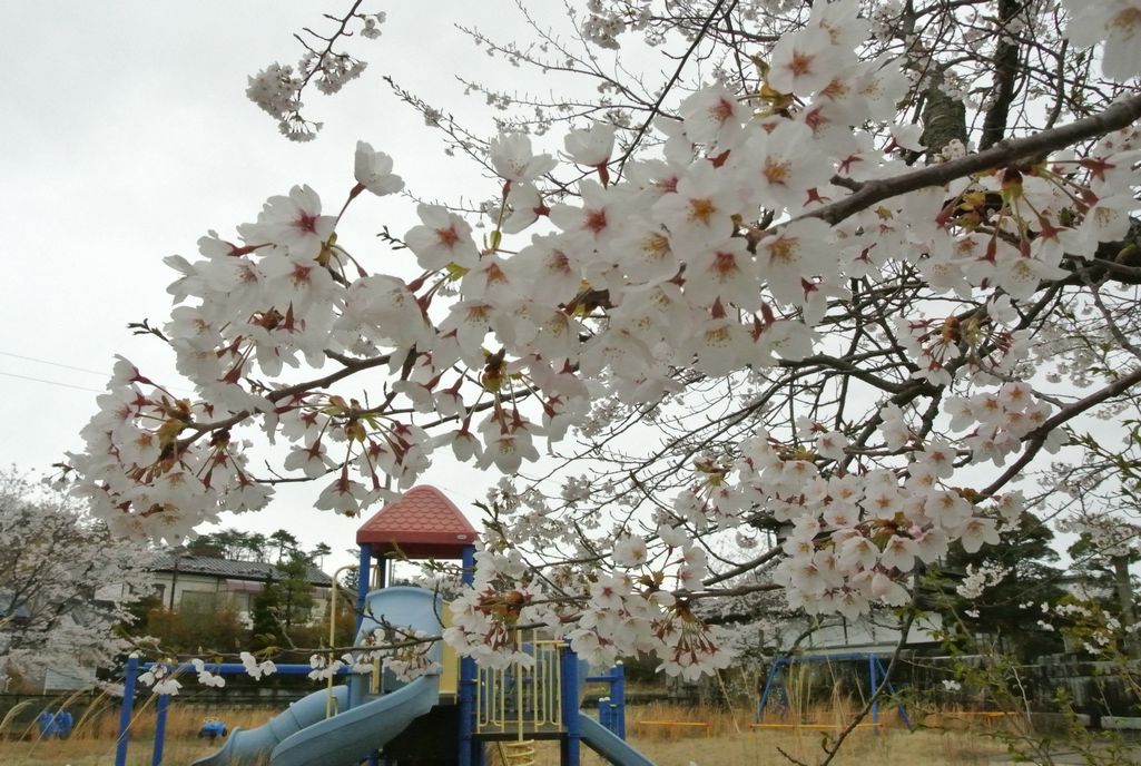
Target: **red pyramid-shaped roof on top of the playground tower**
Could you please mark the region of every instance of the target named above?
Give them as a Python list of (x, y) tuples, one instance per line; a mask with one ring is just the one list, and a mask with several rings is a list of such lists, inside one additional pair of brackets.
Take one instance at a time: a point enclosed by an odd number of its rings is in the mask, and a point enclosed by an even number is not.
[(357, 530), (357, 545), (363, 543), (373, 555), (462, 558), (463, 549), (476, 543), (476, 530), (443, 492), (421, 485), (365, 522)]

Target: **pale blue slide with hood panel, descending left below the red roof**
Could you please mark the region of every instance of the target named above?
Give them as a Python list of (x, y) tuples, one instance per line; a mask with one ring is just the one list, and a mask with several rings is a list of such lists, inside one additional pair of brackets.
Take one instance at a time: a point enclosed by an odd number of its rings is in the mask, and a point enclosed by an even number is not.
[[(357, 642), (380, 622), (438, 634), (439, 602), (423, 588), (385, 588), (369, 594), (365, 620)], [(439, 647), (434, 650), (437, 654)], [(437, 661), (438, 656), (435, 658)], [(363, 686), (366, 678), (358, 678)], [(370, 751), (382, 748), (439, 699), (438, 676), (422, 676), (389, 694), (366, 696), (346, 710), (348, 693), (334, 687), (339, 712), (325, 718), (329, 694), (322, 690), (294, 702), (264, 726), (234, 729), (226, 745), (193, 766), (238, 766), (269, 756), (272, 766), (356, 766)]]

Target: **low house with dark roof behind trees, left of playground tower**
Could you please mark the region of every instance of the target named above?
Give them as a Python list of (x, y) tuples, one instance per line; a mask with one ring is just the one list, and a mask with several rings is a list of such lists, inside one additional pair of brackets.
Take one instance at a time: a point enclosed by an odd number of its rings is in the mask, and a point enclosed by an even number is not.
[[(154, 595), (172, 612), (212, 613), (232, 610), (250, 622), (253, 598), (286, 573), (266, 562), (238, 562), (185, 551), (159, 554), (151, 566)], [(316, 566), (308, 566), (305, 580), (311, 587), (313, 606), (306, 621), (319, 620), (329, 605), (333, 580)]]

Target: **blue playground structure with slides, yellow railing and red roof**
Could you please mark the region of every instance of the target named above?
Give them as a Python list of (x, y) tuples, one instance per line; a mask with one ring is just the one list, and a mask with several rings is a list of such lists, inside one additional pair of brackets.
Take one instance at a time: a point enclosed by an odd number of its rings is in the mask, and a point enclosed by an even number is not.
[[(386, 506), (357, 532), (361, 547), (357, 632), (359, 645), (377, 628), (411, 628), (438, 635), (446, 627), (446, 608), (432, 591), (386, 587), (387, 563), (402, 559), (461, 559), (463, 582), (475, 573), (476, 531), (438, 490), (413, 487)], [(569, 646), (537, 634), (516, 637), (517, 646), (534, 660), (503, 670), (478, 668), (458, 659), (443, 642), (431, 650), (442, 670), (403, 684), (390, 672), (371, 676), (348, 669), (347, 683), (330, 685), (294, 702), (264, 726), (229, 733), (217, 752), (194, 766), (238, 766), (252, 761), (272, 766), (484, 766), (488, 743), (497, 743), (508, 764), (534, 763), (536, 740), (557, 740), (563, 766), (578, 766), (585, 744), (615, 766), (653, 766), (625, 742), (624, 677), (617, 666), (609, 674), (588, 676)], [(115, 766), (126, 766), (136, 679), (151, 668), (128, 661)], [(244, 674), (241, 664), (207, 666), (215, 674)], [(179, 667), (186, 671), (188, 667)], [(280, 664), (282, 675), (307, 675), (308, 664)], [(580, 710), (583, 683), (602, 682), (609, 695), (599, 703), (599, 719)], [(161, 766), (169, 696), (156, 701), (152, 766)], [(260, 760), (259, 760), (260, 759)]]

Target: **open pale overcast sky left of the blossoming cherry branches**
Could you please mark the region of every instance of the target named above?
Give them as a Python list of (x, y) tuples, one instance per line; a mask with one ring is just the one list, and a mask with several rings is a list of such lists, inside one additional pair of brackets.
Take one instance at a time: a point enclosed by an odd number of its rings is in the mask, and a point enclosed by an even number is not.
[[(173, 273), (162, 258), (193, 260), (207, 229), (233, 234), (267, 196), (294, 184), (308, 183), (326, 207), (339, 205), (353, 184), (358, 139), (393, 154), (396, 172), (422, 197), (494, 194), (496, 185), (480, 186), (470, 164), (444, 156), (438, 137), (381, 76), (448, 111), (484, 114), (478, 127), (489, 131), (486, 108), (462, 96), (452, 73), (502, 80), (519, 70), (488, 58), (450, 21), (491, 19), (518, 39), (513, 5), (383, 3), (383, 35), (354, 43), (370, 62), (362, 80), (334, 97), (314, 91), (307, 111), (326, 127), (310, 144), (290, 143), (245, 98), (245, 78), (274, 61), (294, 63), (300, 46), (292, 33), (316, 27), (318, 8), (342, 6), (349, 3), (0, 2), (0, 465), (44, 471), (78, 449), (115, 354), (156, 380), (173, 380), (162, 345), (126, 329), (168, 316)], [(380, 224), (403, 232), (413, 223), (408, 200), (369, 204), (351, 221), (358, 248), (374, 248)], [(472, 521), (471, 501), (492, 483), (454, 467), (434, 468), (426, 481)], [(359, 522), (307, 509), (311, 497), (278, 497), (268, 511), (232, 524), (284, 527), (307, 547), (353, 546)]]

